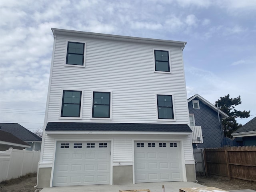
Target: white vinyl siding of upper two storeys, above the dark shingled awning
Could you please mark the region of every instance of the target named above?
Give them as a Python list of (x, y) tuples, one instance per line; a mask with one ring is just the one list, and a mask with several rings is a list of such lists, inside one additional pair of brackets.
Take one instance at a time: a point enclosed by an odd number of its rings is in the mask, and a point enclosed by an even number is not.
[[(83, 90), (82, 121), (110, 122), (91, 118), (91, 92), (112, 91), (111, 122), (157, 122), (155, 92), (174, 95), (176, 124), (188, 124), (188, 106), (182, 61), (178, 47), (158, 46), (170, 51), (171, 74), (154, 73), (152, 46), (130, 42), (76, 39), (86, 42), (85, 68), (65, 65), (66, 38), (56, 38), (54, 66), (50, 84), (47, 122), (67, 122), (58, 118), (62, 89)], [(129, 53), (129, 54), (127, 54)], [(171, 82), (171, 83), (170, 83)], [(71, 122), (80, 122), (72, 120)]]

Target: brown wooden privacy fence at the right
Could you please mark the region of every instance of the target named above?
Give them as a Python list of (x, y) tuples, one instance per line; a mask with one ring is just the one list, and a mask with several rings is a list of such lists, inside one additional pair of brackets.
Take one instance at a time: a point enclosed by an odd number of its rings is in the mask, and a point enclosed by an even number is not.
[(256, 182), (256, 146), (204, 149), (206, 175)]

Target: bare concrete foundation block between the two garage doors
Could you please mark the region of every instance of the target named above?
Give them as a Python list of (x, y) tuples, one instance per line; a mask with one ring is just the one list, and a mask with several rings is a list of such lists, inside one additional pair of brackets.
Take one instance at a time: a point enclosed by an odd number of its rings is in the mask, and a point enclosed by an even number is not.
[(113, 166), (113, 185), (132, 184), (132, 166)]

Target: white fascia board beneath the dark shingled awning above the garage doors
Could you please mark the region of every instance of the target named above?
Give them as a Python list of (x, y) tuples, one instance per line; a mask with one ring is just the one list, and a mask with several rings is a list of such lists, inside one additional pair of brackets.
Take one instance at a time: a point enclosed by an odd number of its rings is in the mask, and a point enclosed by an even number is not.
[(192, 132), (146, 132), (146, 131), (46, 131), (48, 135), (92, 135), (92, 134), (115, 134), (115, 135), (192, 135)]

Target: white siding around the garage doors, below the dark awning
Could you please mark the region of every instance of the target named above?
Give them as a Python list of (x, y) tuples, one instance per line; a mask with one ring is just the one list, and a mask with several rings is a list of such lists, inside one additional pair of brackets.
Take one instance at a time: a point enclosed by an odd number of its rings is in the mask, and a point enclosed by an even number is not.
[(78, 134), (78, 135), (52, 135), (49, 136), (46, 134), (44, 141), (44, 151), (42, 155), (41, 163), (52, 163), (54, 158), (54, 149), (55, 149), (55, 140), (113, 140), (113, 162), (132, 162), (133, 161), (133, 150), (132, 150), (132, 139), (134, 140), (180, 140), (183, 143), (184, 150), (184, 160), (189, 161), (193, 160), (193, 151), (191, 146), (191, 138), (188, 136), (177, 136), (177, 135), (168, 135), (168, 136), (158, 136), (158, 135), (126, 135), (126, 136), (117, 136), (117, 135), (90, 135)]

